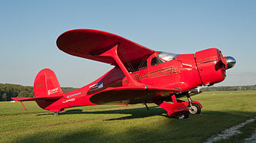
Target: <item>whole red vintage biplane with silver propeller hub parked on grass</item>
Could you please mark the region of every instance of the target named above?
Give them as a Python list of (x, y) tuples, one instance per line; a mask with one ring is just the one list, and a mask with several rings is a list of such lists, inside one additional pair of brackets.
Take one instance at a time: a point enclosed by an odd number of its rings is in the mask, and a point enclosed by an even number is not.
[[(198, 87), (202, 85), (211, 86), (224, 80), (225, 70), (235, 64), (233, 57), (223, 57), (216, 48), (195, 54), (170, 54), (91, 29), (66, 31), (58, 37), (57, 46), (67, 54), (115, 67), (98, 80), (69, 93), (62, 92), (52, 70), (44, 69), (35, 77), (35, 97), (12, 99), (35, 100), (54, 115), (74, 106), (143, 103), (148, 109), (147, 103), (154, 102), (170, 117), (188, 117), (189, 113), (200, 113), (202, 108), (190, 96), (201, 93)], [(187, 96), (188, 101), (177, 99), (182, 96)]]

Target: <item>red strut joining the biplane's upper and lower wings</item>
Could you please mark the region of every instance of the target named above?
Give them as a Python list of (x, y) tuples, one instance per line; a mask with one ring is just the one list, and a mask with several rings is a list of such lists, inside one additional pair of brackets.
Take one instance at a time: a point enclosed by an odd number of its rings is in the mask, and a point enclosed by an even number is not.
[(125, 68), (124, 63), (121, 62), (120, 58), (118, 57), (118, 44), (116, 44), (111, 49), (105, 51), (105, 53), (101, 54), (100, 56), (112, 57), (115, 62), (118, 63), (118, 67), (120, 67), (121, 71), (125, 74), (129, 81), (128, 86), (145, 86), (144, 84), (135, 81), (132, 78), (131, 74), (128, 72), (128, 70)]

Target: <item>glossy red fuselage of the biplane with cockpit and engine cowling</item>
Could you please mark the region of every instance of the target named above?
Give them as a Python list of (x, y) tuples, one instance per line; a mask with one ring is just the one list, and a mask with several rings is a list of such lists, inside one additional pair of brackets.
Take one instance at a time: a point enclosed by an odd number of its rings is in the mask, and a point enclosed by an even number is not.
[[(156, 51), (141, 60), (138, 67), (131, 71), (131, 76), (138, 83), (148, 86), (178, 89), (182, 92), (194, 89), (201, 85), (212, 85), (221, 82), (225, 78), (225, 70), (222, 68), (222, 54), (218, 49), (211, 48), (201, 50), (196, 54), (170, 54)], [(128, 86), (128, 79), (121, 69), (116, 66), (105, 75), (87, 86), (65, 93), (62, 99), (54, 102), (46, 109), (54, 109), (55, 106), (62, 109), (72, 106), (89, 106), (97, 104), (131, 104), (138, 102), (152, 102), (155, 96), (169, 96), (170, 93), (147, 93), (146, 95), (105, 96), (104, 102), (94, 102), (93, 96), (110, 87)], [(141, 93), (144, 94), (144, 93)]]

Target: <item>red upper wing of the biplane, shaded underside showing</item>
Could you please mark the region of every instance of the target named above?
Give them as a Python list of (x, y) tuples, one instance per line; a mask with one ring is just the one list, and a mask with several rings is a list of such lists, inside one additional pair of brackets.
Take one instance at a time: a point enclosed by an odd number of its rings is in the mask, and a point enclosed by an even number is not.
[(92, 29), (66, 31), (57, 39), (58, 48), (67, 54), (111, 63), (112, 65), (117, 65), (114, 59), (99, 55), (116, 44), (119, 47), (118, 57), (124, 64), (128, 61), (131, 64), (138, 64), (145, 56), (155, 53), (155, 50), (136, 44), (124, 37)]

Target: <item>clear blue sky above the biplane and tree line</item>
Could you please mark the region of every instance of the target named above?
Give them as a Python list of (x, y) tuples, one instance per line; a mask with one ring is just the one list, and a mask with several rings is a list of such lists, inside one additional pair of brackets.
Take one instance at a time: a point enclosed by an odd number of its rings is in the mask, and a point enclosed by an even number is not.
[(216, 86), (256, 84), (256, 1), (1, 1), (0, 83), (32, 86), (39, 70), (81, 87), (112, 67), (56, 47), (75, 28), (108, 31), (153, 50), (191, 54), (218, 47), (237, 60)]

